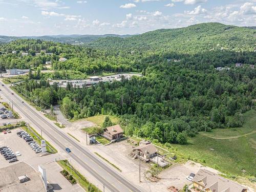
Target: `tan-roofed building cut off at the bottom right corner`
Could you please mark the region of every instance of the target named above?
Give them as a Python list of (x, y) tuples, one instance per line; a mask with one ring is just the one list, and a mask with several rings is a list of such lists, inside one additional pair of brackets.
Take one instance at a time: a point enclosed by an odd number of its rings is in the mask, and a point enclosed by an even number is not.
[[(194, 177), (193, 188), (205, 192), (247, 192), (247, 188), (209, 170), (200, 169)], [(191, 191), (198, 191), (191, 188)]]

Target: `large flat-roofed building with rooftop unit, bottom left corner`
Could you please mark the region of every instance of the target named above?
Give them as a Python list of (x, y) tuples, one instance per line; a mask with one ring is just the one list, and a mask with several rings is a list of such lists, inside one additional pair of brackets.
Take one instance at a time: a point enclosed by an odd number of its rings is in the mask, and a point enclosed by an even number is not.
[(12, 164), (0, 169), (1, 192), (46, 192), (41, 174), (25, 162)]

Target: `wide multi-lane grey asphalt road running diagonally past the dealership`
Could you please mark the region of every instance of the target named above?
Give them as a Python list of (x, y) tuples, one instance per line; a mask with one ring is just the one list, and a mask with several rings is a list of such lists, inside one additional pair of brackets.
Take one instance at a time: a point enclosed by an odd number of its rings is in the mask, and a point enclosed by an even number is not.
[[(1, 82), (2, 83), (2, 82)], [(52, 142), (53, 145), (58, 145), (65, 150), (66, 147), (70, 147), (71, 153), (68, 155), (72, 157), (80, 166), (86, 169), (97, 180), (104, 184), (105, 191), (141, 191), (135, 185), (127, 181), (117, 173), (114, 169), (106, 165), (99, 160), (94, 154), (90, 153), (86, 148), (81, 147), (76, 141), (69, 138), (63, 133), (55, 124), (49, 122), (49, 120), (37, 112), (32, 106), (23, 100), (17, 94), (7, 87), (2, 87), (2, 94), (6, 99), (12, 101), (13, 107), (25, 120), (31, 125), (35, 126), (38, 130), (41, 130)], [(118, 154), (117, 154), (118, 155)]]

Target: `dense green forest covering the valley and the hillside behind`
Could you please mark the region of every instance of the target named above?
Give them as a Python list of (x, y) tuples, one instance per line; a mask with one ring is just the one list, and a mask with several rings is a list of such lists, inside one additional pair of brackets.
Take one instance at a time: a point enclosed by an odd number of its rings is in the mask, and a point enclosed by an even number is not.
[[(0, 47), (0, 67), (33, 69), (14, 89), (39, 106), (59, 103), (71, 119), (116, 115), (123, 125), (129, 120), (123, 126), (128, 136), (185, 144), (199, 131), (242, 126), (243, 113), (254, 108), (255, 33), (208, 23), (126, 38), (104, 37), (83, 46), (19, 39)], [(29, 55), (22, 57), (22, 52)], [(60, 57), (68, 60), (60, 62)], [(69, 84), (63, 89), (50, 86), (40, 73), (48, 60), (53, 70), (63, 73), (131, 71), (143, 76), (85, 88)], [(236, 67), (237, 62), (243, 67)], [(228, 69), (215, 69), (225, 66)]]

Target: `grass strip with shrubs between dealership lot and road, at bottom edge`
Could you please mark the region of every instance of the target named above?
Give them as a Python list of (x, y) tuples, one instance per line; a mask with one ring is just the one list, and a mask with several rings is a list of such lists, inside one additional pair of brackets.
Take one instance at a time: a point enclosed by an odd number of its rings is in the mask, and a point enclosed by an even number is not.
[[(64, 161), (57, 161), (57, 163), (63, 168), (65, 169), (69, 174), (71, 174), (70, 172), (70, 164), (67, 160)], [(90, 192), (101, 192), (100, 189), (98, 189), (95, 185), (93, 185), (92, 183), (90, 183), (84, 176), (82, 176), (72, 165), (71, 165), (71, 169), (72, 169), (72, 176), (73, 178), (75, 178), (75, 180), (78, 182), (78, 184), (86, 191), (90, 191)]]

